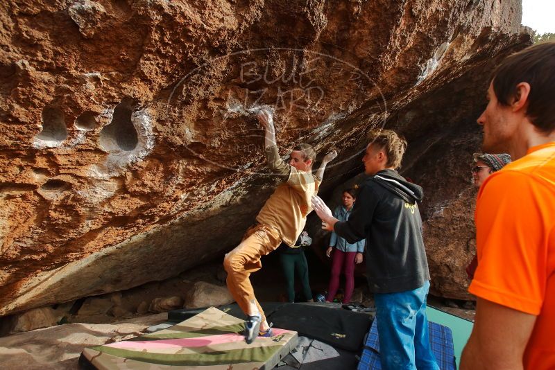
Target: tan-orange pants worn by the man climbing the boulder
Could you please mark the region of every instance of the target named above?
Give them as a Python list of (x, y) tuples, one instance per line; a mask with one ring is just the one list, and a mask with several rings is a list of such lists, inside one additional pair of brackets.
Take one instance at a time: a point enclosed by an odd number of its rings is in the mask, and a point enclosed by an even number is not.
[(228, 289), (245, 315), (253, 313), (249, 312), (249, 308), (250, 303), (255, 303), (262, 321), (266, 319), (248, 278), (262, 268), (260, 257), (272, 252), (281, 243), (276, 229), (265, 224), (255, 224), (246, 231), (241, 244), (223, 258), (223, 267), (228, 272)]

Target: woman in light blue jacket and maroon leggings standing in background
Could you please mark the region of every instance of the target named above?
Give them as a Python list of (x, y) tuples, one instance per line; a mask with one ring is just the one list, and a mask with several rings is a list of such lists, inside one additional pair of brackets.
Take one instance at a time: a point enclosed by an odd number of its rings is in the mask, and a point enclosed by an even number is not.
[[(338, 206), (334, 211), (334, 217), (340, 221), (348, 220), (352, 206), (355, 204), (357, 195), (355, 189), (348, 188), (343, 191), (343, 206)], [(345, 294), (343, 304), (347, 304), (351, 300), (352, 291), (355, 289), (355, 263), (362, 262), (362, 254), (364, 252), (365, 241), (360, 240), (357, 243), (350, 244), (347, 240), (337, 236), (332, 232), (330, 239), (330, 247), (325, 252), (326, 256), (330, 257), (333, 249), (332, 257), (332, 278), (330, 279), (330, 287), (327, 289), (326, 302), (332, 302), (334, 296), (339, 288), (339, 276), (341, 270), (345, 274)]]

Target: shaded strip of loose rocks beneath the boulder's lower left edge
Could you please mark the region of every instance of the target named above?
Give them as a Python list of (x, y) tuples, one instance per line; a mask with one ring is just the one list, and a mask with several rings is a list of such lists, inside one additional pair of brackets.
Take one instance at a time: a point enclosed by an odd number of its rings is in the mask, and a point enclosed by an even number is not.
[(200, 266), (171, 279), (137, 288), (28, 310), (0, 319), (0, 335), (58, 324), (110, 324), (178, 308), (232, 302), (219, 263)]

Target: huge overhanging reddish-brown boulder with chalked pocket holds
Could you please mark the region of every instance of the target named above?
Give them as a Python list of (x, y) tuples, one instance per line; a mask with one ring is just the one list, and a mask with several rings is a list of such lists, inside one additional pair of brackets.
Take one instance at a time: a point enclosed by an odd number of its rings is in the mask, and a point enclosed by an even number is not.
[[(0, 5), (0, 315), (167, 279), (236, 245), (283, 155), (409, 139), (433, 289), (464, 296), (474, 120), (529, 43), (519, 0), (8, 1)], [(437, 283), (435, 283), (437, 281)]]

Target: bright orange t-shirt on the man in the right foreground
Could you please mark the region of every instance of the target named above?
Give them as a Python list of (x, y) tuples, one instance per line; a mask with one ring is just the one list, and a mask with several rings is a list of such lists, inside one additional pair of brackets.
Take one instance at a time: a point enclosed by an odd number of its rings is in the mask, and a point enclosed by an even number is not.
[(537, 315), (524, 369), (555, 369), (555, 142), (488, 177), (475, 222), (478, 268), (468, 291)]

